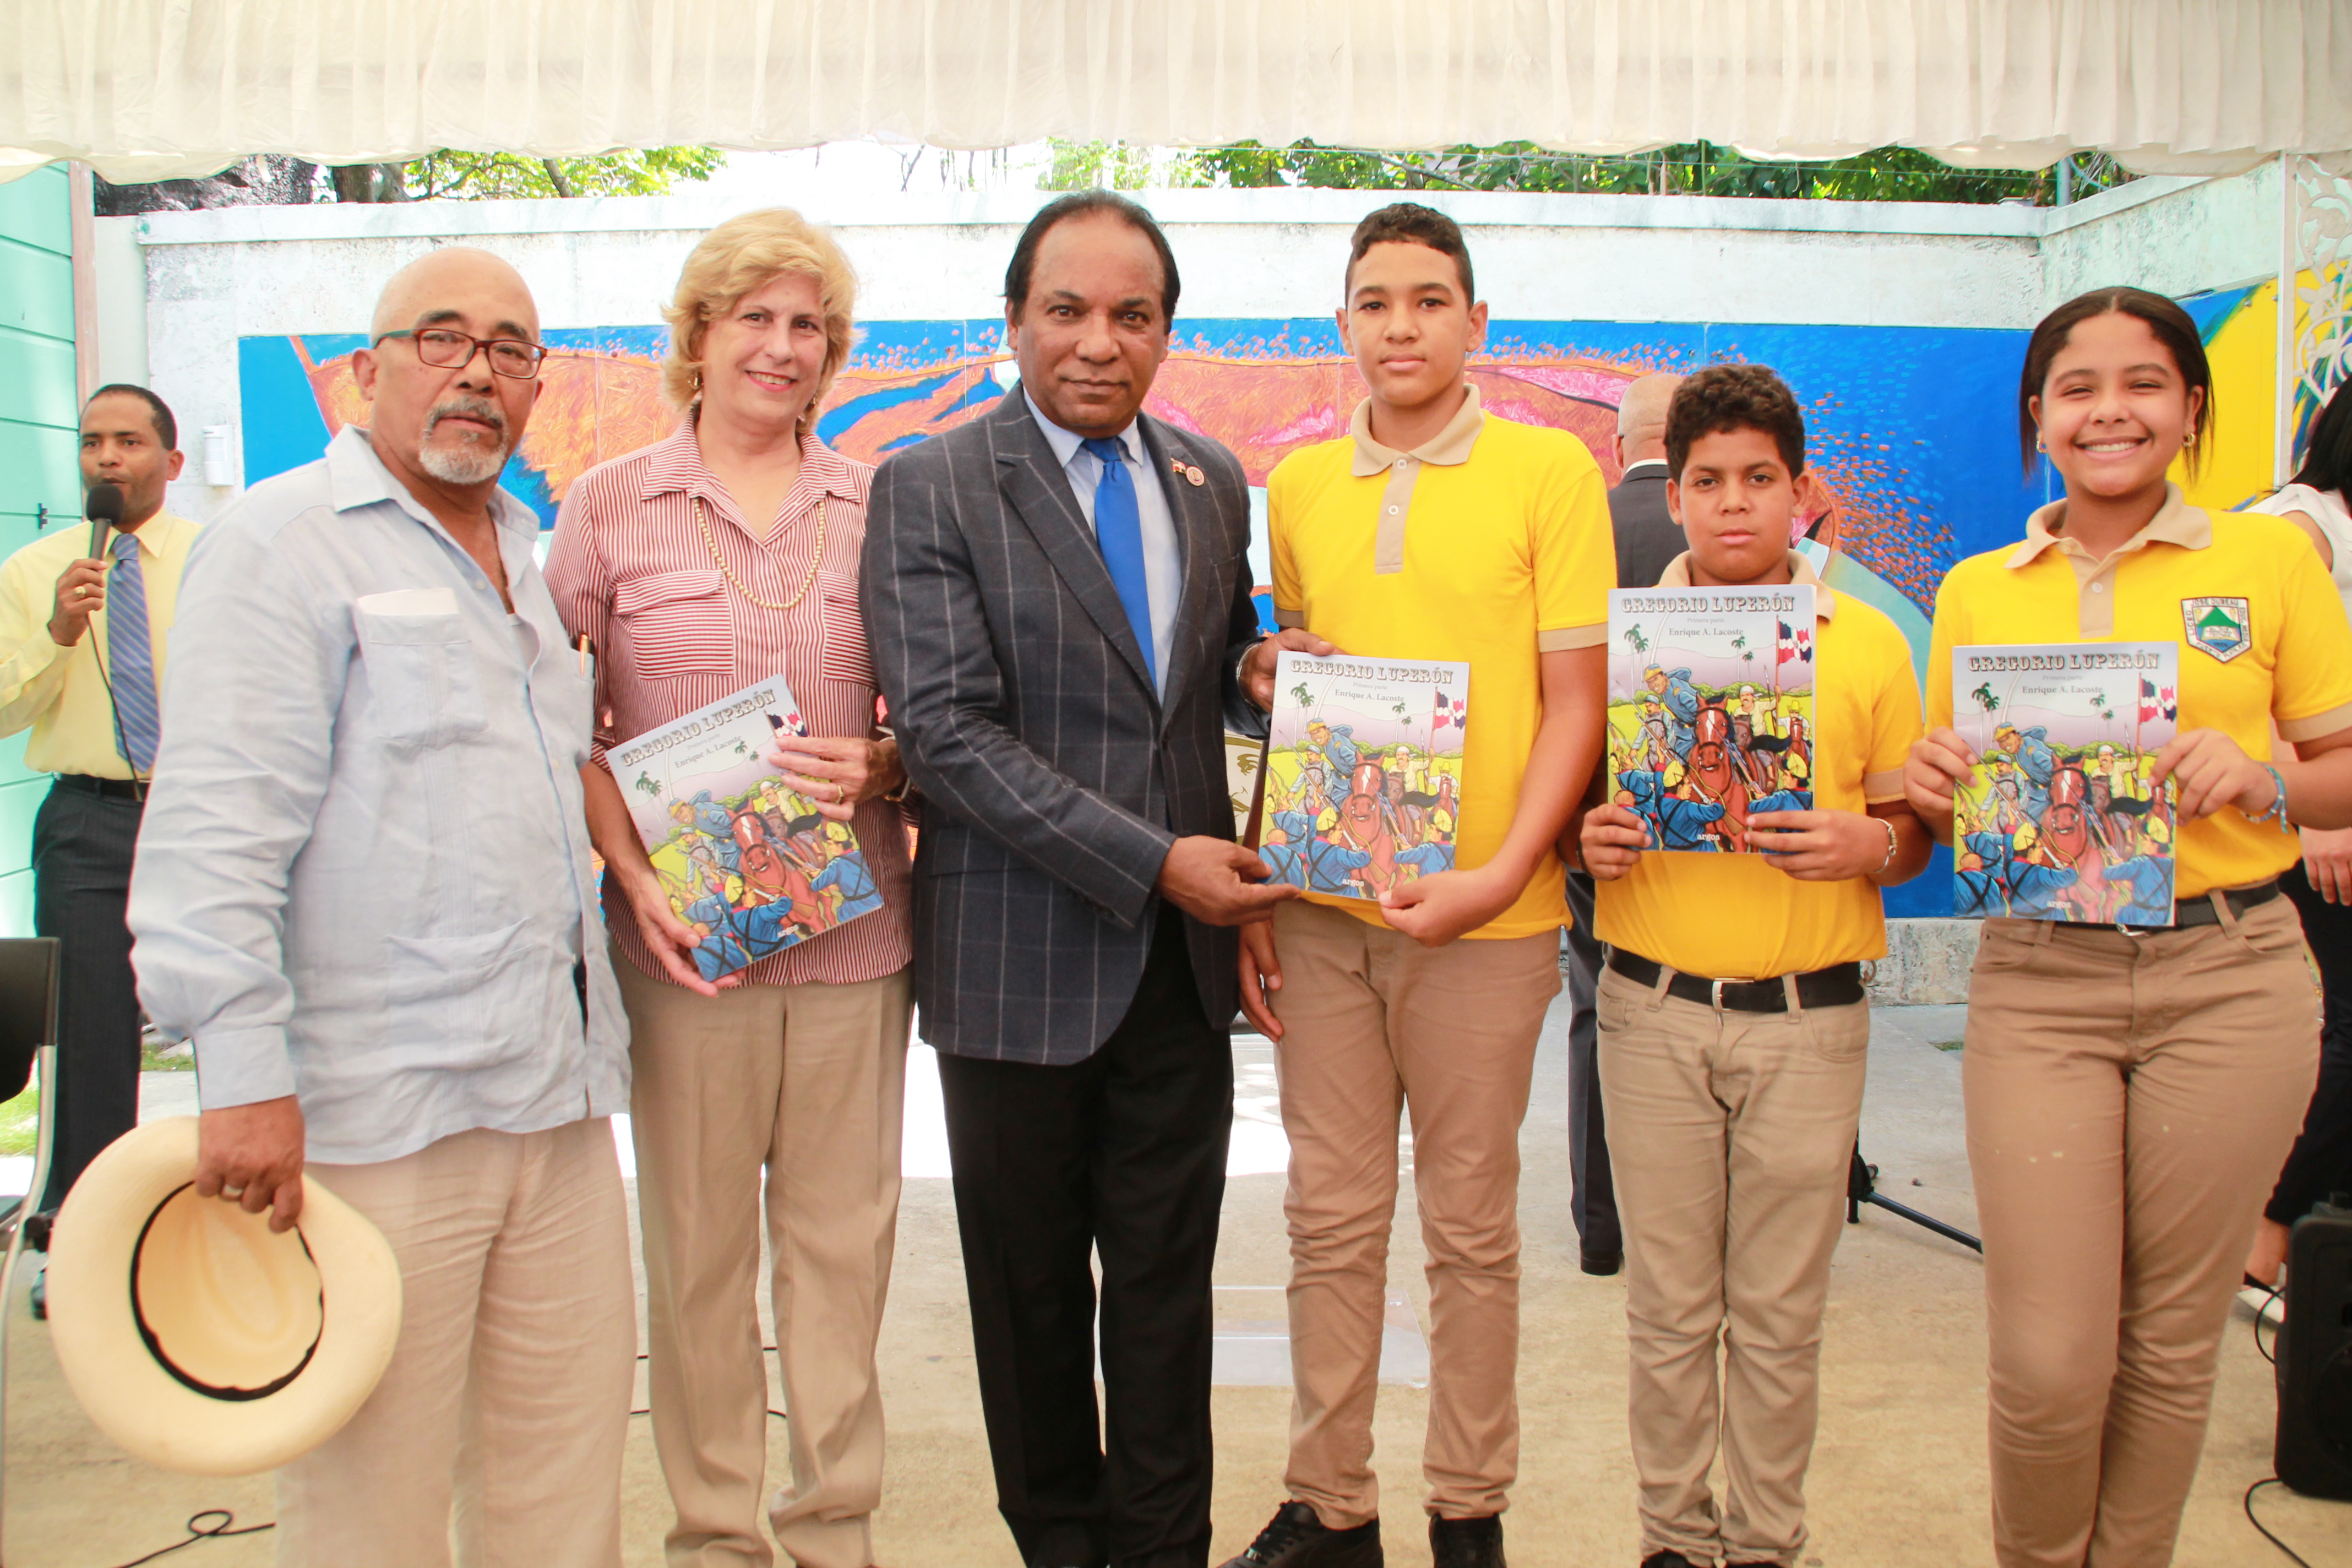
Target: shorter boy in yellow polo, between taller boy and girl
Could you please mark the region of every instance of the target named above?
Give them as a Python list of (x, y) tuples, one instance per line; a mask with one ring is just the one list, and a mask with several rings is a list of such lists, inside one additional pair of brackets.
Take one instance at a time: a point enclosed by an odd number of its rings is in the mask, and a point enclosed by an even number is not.
[(1684, 381), (1665, 461), (1691, 548), (1658, 585), (1813, 583), (1818, 625), (1813, 809), (1752, 813), (1764, 853), (1642, 853), (1623, 806), (1583, 823), (1609, 945), (1602, 1107), (1625, 1225), (1642, 1568), (1783, 1566), (1804, 1559), (1820, 1309), (1863, 1114), (1860, 966), (1886, 952), (1879, 889), (1929, 856), (1903, 802), (1919, 686), (1893, 621), (1788, 548), (1813, 475), (1776, 374), (1712, 364)]

